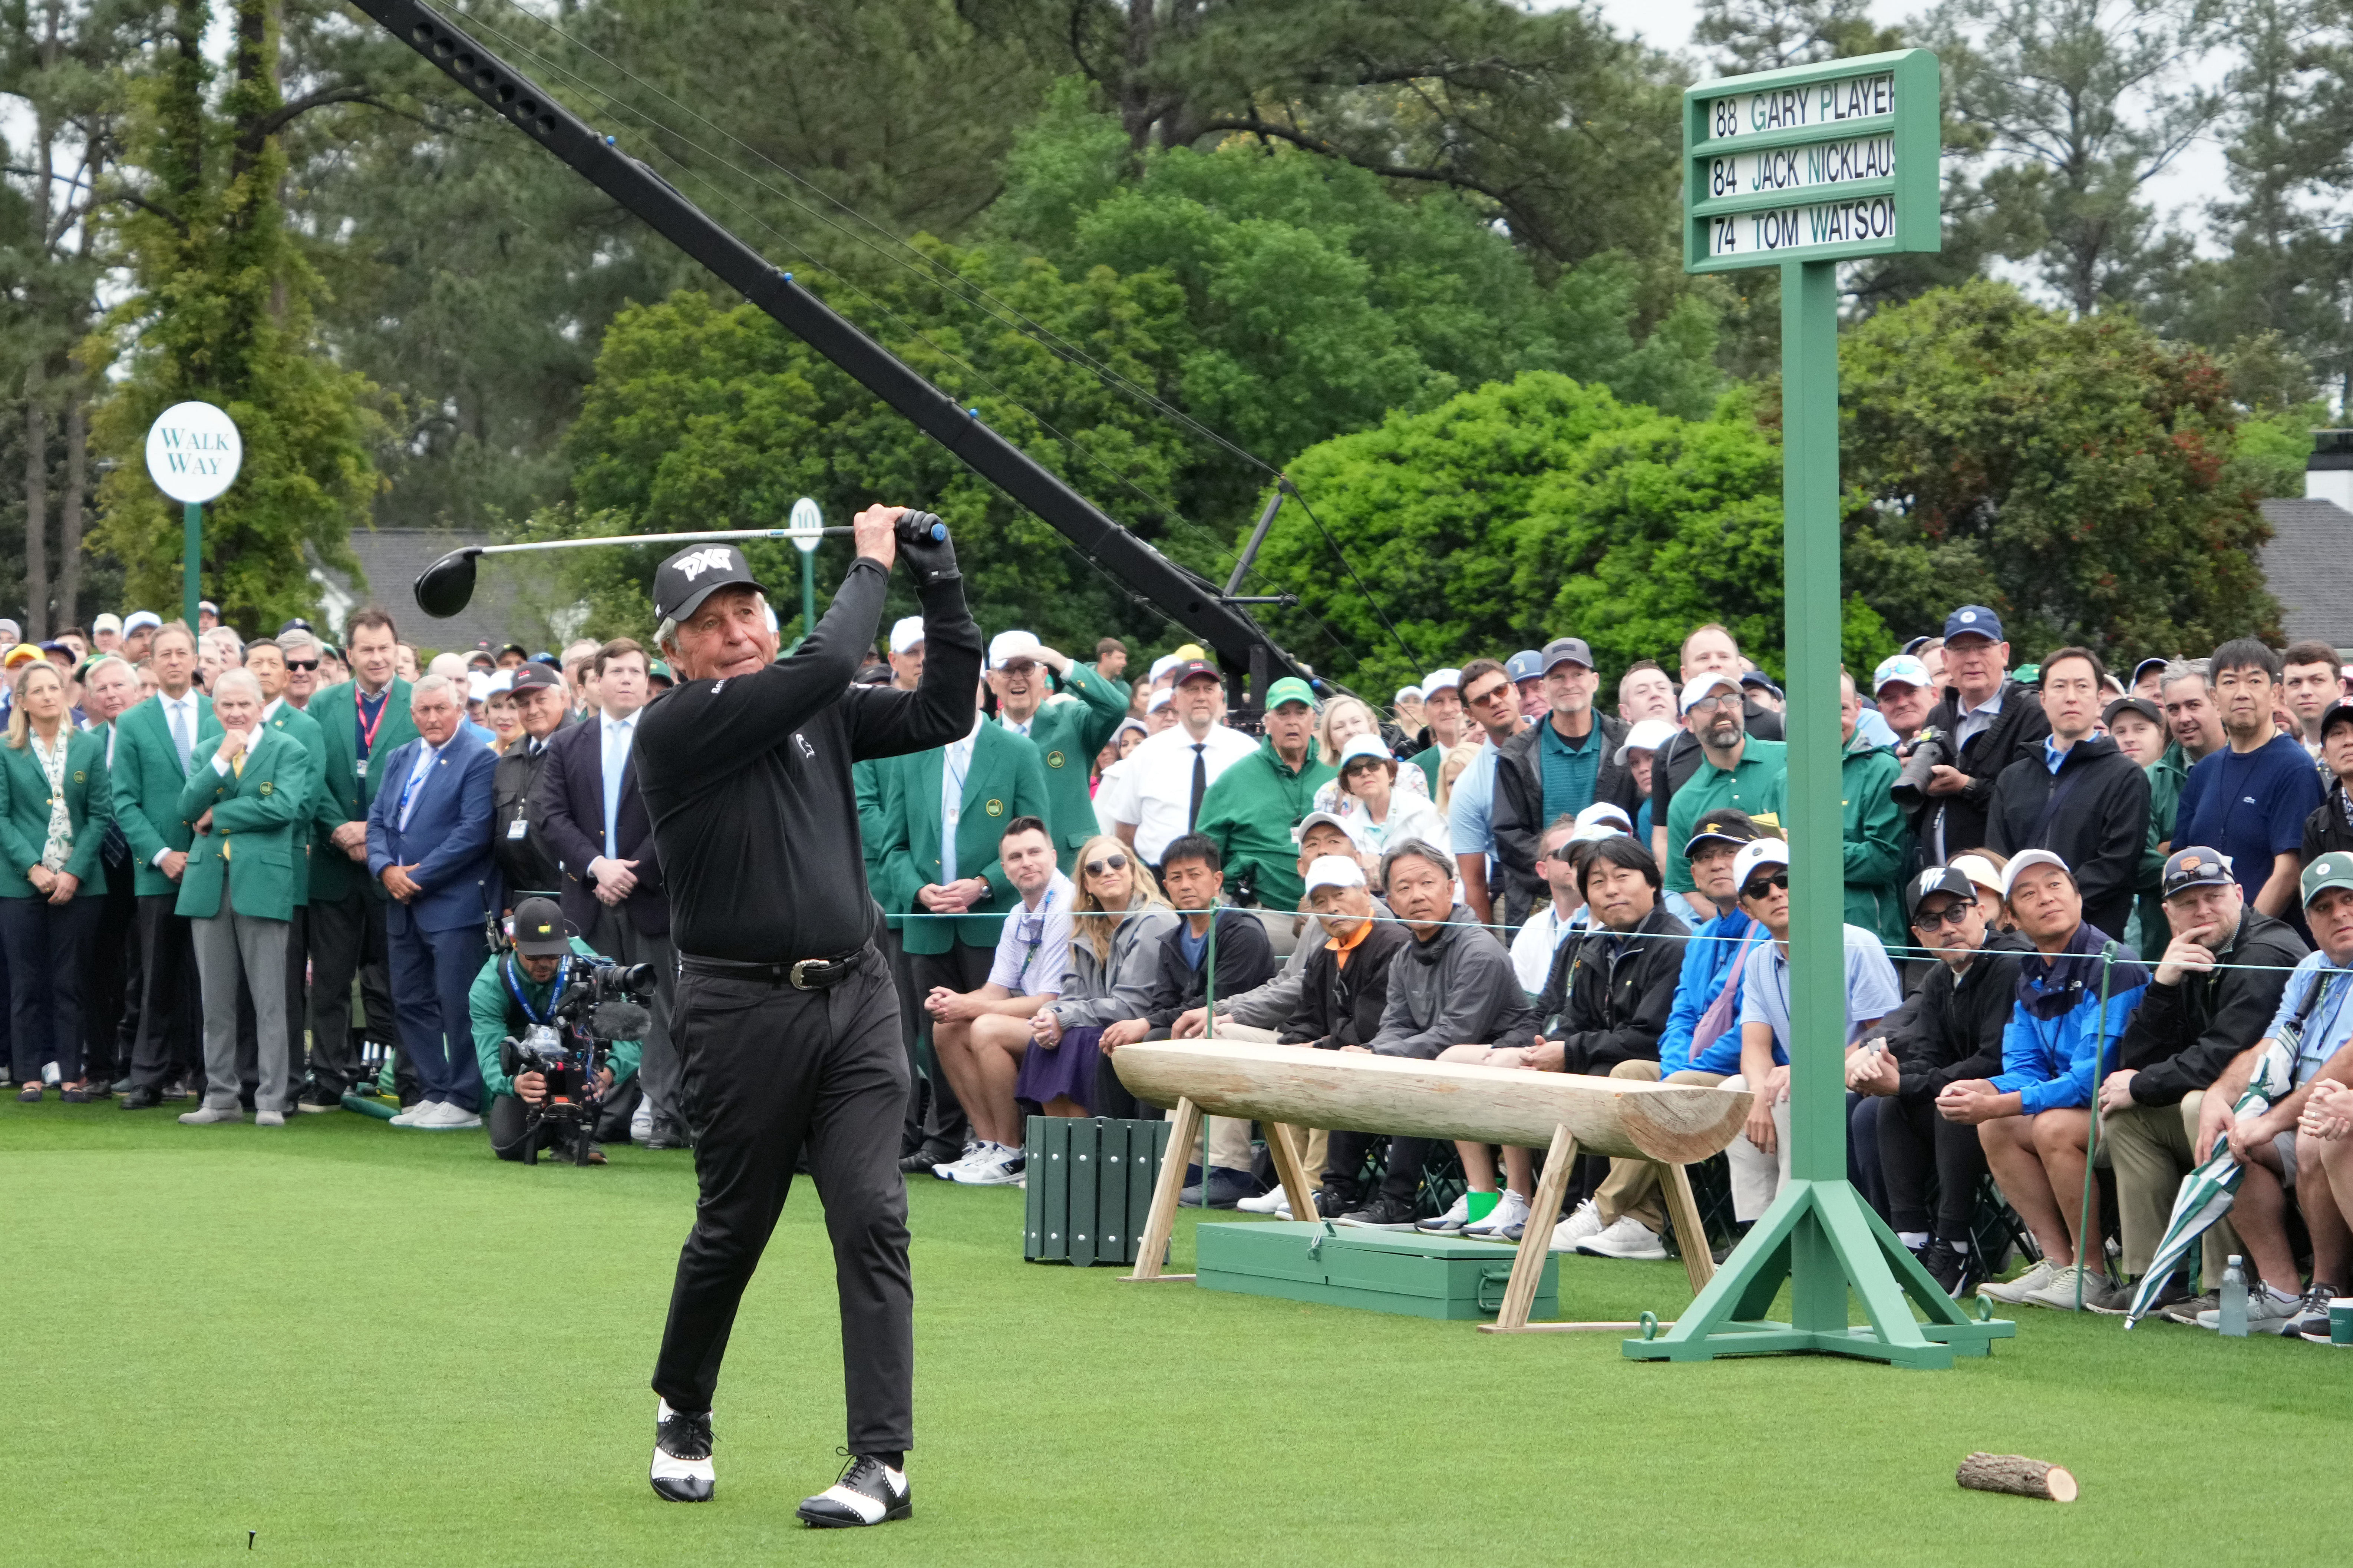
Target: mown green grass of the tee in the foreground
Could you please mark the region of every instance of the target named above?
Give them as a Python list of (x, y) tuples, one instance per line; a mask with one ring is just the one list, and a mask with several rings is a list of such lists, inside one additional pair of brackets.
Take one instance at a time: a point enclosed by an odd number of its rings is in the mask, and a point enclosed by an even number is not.
[[(7, 1563), (2341, 1561), (2353, 1352), (2019, 1309), (1991, 1361), (1631, 1363), (1619, 1335), (1021, 1262), (1021, 1192), (922, 1180), (915, 1519), (809, 1533), (840, 1338), (800, 1185), (720, 1382), (720, 1490), (645, 1483), (689, 1154), (499, 1164), (351, 1114), (0, 1105)], [(1226, 1220), (1226, 1215), (1219, 1215)], [(1176, 1232), (1191, 1267), (1193, 1220)], [(1567, 1316), (1682, 1267), (1565, 1260)], [(2082, 1502), (1962, 1493), (1972, 1448)], [(247, 1552), (247, 1530), (256, 1544)], [(231, 1556), (233, 1554), (233, 1556)]]

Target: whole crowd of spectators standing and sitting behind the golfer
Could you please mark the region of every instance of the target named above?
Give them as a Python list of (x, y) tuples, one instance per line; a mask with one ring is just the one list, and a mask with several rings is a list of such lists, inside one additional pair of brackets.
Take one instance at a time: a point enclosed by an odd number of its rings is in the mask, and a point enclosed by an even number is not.
[[(245, 639), (0, 621), (0, 1063), (19, 1100), (191, 1126), (391, 1110), (522, 1157), (501, 1060), (574, 959), (656, 973), (602, 1143), (692, 1143), (635, 639), (442, 651), (393, 616)], [(1715, 1211), (1788, 1180), (1784, 693), (1722, 625), (1614, 701), (1579, 637), (1386, 708), (1299, 677), (1228, 712), (1198, 646), (1129, 670), (1007, 630), (972, 731), (856, 766), (913, 1091), (911, 1180), (1012, 1185), (1026, 1117), (1136, 1117), (1155, 1037), (1751, 1091)], [(1668, 651), (1661, 649), (1661, 658)], [(861, 682), (913, 689), (906, 618)], [(1849, 1175), (1953, 1295), (2327, 1340), (2353, 1281), (2353, 665), (2320, 642), (2014, 665), (1988, 607), (1840, 689)], [(793, 957), (793, 954), (779, 954)], [(1212, 1018), (1214, 1011), (1214, 1018)], [(1289, 1213), (1214, 1119), (1186, 1201)], [(2186, 1258), (2174, 1197), (2238, 1194)], [(1325, 1218), (1513, 1241), (1537, 1152), (1308, 1138)], [(1708, 1185), (1708, 1182), (1704, 1182)], [(1666, 1258), (1647, 1161), (1581, 1161), (1555, 1251)], [(2017, 1251), (2017, 1269), (2005, 1267)], [(2002, 1274), (2009, 1272), (2009, 1279)], [(2151, 1288), (2151, 1279), (2155, 1286)]]

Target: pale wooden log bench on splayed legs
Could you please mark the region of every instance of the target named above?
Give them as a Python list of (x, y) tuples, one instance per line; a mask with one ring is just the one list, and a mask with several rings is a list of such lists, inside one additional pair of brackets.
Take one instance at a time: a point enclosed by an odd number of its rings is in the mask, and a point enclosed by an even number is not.
[[(1315, 1182), (1299, 1164), (1292, 1128), (1351, 1128), (1409, 1138), (1459, 1138), (1546, 1150), (1544, 1178), (1529, 1197), (1527, 1229), (1504, 1291), (1492, 1333), (1579, 1328), (1529, 1324), (1544, 1255), (1560, 1220), (1569, 1171), (1579, 1154), (1647, 1159), (1659, 1166), (1668, 1215), (1682, 1246), (1682, 1267), (1699, 1291), (1715, 1276), (1708, 1232), (1685, 1173), (1694, 1159), (1718, 1154), (1748, 1119), (1751, 1095), (1701, 1084), (1645, 1084), (1572, 1072), (1471, 1067), (1355, 1051), (1261, 1046), (1228, 1039), (1146, 1039), (1120, 1046), (1111, 1065), (1139, 1100), (1174, 1107), (1169, 1159), (1153, 1190), (1151, 1220), (1129, 1279), (1191, 1279), (1162, 1274), (1176, 1194), (1202, 1114), (1266, 1124), (1266, 1150), (1289, 1197), (1292, 1213), (1315, 1213)], [(1617, 1326), (1617, 1324), (1612, 1324)]]

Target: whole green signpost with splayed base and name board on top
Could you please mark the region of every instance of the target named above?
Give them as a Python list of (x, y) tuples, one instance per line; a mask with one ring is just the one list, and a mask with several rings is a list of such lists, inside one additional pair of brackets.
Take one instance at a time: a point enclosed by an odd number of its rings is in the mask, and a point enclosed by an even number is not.
[[(1828, 1352), (1939, 1368), (2014, 1333), (1969, 1319), (1847, 1182), (1838, 263), (1937, 249), (1937, 94), (1925, 49), (1685, 94), (1685, 268), (1781, 268), (1791, 1159), (1772, 1208), (1675, 1326), (1626, 1340), (1638, 1361)], [(1784, 1281), (1791, 1316), (1774, 1321)], [(1849, 1291), (1861, 1326), (1847, 1324)]]

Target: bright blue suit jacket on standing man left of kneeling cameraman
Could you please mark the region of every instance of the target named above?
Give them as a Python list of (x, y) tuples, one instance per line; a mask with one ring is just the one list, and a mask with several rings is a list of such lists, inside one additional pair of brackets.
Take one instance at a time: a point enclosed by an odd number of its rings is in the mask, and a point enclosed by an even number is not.
[[(499, 863), (492, 858), (492, 818), (496, 816), (489, 778), (496, 752), (475, 745), (466, 733), (449, 738), (433, 766), (416, 783), (409, 825), (400, 827), (400, 790), (416, 766), (409, 741), (384, 759), (376, 799), (367, 806), (367, 875), (384, 879), (386, 865), (414, 865), (409, 877), (424, 889), (407, 905), (386, 912), (388, 931), (459, 931), (482, 924), (499, 910)], [(376, 766), (369, 766), (374, 773)]]

